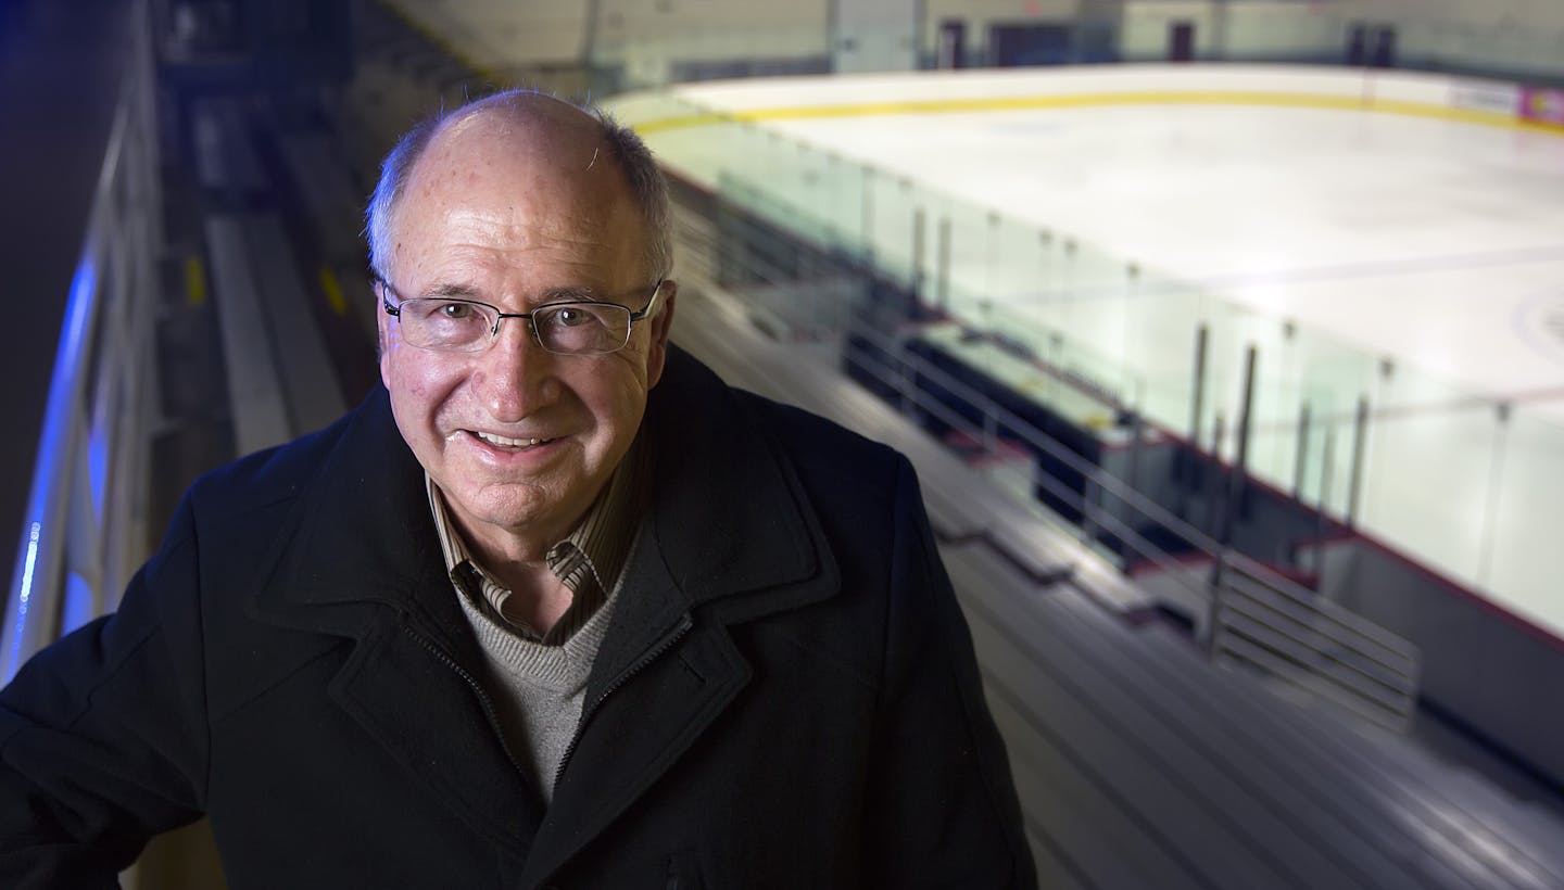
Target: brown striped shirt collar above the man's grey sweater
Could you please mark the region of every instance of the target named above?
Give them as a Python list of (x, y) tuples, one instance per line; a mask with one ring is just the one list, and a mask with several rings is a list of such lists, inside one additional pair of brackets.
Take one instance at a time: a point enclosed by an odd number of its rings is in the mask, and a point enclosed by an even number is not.
[(446, 555), (446, 569), (457, 591), (524, 640), (561, 646), (597, 613), (619, 579), (624, 560), (630, 555), (647, 485), (646, 450), (641, 440), (635, 440), (576, 530), (544, 554), (549, 571), (572, 594), (569, 608), (544, 633), (538, 633), (535, 627), (505, 610), (511, 590), (499, 583), (472, 557), (446, 511), (444, 494), (425, 472), (424, 482), (429, 490), (429, 507), (435, 515), (435, 530), (439, 533), (439, 549)]

